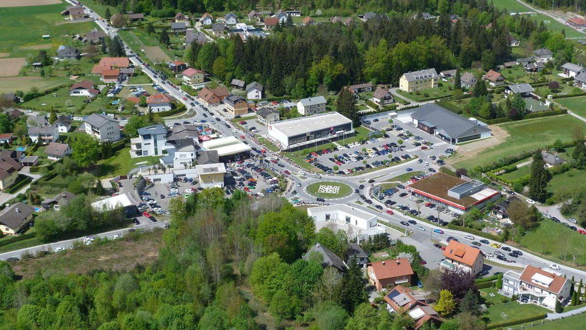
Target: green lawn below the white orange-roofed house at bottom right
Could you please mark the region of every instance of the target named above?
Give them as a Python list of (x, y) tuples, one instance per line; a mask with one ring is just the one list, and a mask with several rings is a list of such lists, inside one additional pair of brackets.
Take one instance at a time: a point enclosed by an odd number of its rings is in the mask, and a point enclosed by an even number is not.
[[(519, 304), (516, 301), (510, 301), (508, 298), (507, 302), (503, 302), (501, 298), (506, 297), (498, 294), (496, 288), (485, 288), (480, 291), (481, 297), (488, 303), (488, 309), (481, 317), (489, 325), (492, 322), (515, 321), (516, 319), (525, 319), (550, 312), (546, 308), (534, 304)], [(490, 293), (495, 294), (495, 297), (490, 297)]]

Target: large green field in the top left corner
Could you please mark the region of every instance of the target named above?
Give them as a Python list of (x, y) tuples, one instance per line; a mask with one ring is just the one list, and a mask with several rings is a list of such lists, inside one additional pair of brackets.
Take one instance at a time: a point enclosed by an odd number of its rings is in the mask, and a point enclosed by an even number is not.
[[(66, 7), (61, 3), (0, 8), (0, 17), (3, 18), (0, 19), (0, 53), (9, 53), (9, 57), (15, 58), (38, 51), (32, 50), (31, 46), (50, 45), (56, 49), (63, 41), (69, 42), (69, 36), (97, 27), (94, 22), (63, 23), (69, 22), (60, 15)], [(50, 35), (52, 39), (42, 39), (42, 35)]]

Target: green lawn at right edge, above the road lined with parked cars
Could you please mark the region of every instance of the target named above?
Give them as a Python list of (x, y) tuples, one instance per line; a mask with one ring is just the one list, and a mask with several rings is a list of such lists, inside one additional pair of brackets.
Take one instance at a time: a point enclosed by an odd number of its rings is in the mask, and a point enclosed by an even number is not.
[[(543, 257), (565, 262), (573, 266), (572, 252), (577, 254), (576, 262), (579, 265), (586, 265), (586, 240), (584, 235), (555, 223), (549, 219), (541, 220), (539, 227), (528, 231), (518, 242), (520, 246), (543, 255)], [(568, 248), (568, 245), (571, 248)], [(564, 253), (567, 255), (564, 256)]]

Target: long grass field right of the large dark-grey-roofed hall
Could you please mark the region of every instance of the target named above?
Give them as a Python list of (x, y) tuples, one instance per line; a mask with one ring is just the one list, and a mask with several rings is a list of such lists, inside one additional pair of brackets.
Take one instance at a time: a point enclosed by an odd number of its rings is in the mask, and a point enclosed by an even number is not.
[(499, 158), (545, 147), (557, 139), (562, 142), (569, 142), (572, 139), (571, 132), (573, 127), (581, 126), (586, 129), (586, 123), (570, 115), (521, 120), (519, 122), (499, 124), (498, 126), (509, 133), (505, 142), (483, 150), (476, 157), (470, 159), (458, 161), (458, 157), (460, 157), (458, 155), (454, 159), (454, 166), (472, 169), (475, 166), (490, 163)]

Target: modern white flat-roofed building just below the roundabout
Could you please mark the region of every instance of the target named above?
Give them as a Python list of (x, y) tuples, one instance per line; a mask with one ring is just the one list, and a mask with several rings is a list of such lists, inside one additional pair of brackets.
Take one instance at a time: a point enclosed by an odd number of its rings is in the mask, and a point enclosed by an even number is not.
[(307, 209), (307, 214), (314, 219), (316, 230), (322, 227), (329, 227), (334, 231), (343, 230), (349, 238), (356, 237), (359, 241), (386, 233), (377, 223), (376, 215), (346, 204), (310, 207)]

